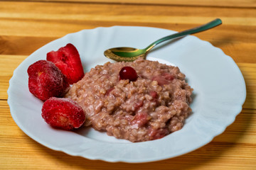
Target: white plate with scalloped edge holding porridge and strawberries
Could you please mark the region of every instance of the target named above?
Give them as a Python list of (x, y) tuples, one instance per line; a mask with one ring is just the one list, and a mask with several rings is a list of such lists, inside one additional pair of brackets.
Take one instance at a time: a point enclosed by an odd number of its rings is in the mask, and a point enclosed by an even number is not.
[(245, 101), (245, 81), (235, 62), (209, 42), (189, 35), (152, 50), (147, 59), (174, 64), (186, 74), (193, 91), (193, 114), (184, 127), (161, 140), (132, 143), (104, 132), (82, 128), (75, 132), (50, 128), (41, 118), (43, 102), (28, 91), (27, 69), (47, 52), (73, 43), (85, 72), (110, 61), (103, 52), (110, 47), (143, 48), (173, 30), (133, 26), (95, 28), (71, 33), (41, 47), (14, 71), (8, 103), (16, 124), (29, 137), (50, 149), (106, 162), (153, 162), (191, 152), (222, 133), (233, 123)]

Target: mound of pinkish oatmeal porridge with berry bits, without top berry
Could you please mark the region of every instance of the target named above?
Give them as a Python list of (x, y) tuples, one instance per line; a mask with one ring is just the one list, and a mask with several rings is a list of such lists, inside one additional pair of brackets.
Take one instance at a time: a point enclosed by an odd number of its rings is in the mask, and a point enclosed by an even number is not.
[[(123, 67), (132, 67), (137, 79), (119, 79)], [(142, 142), (183, 127), (191, 113), (192, 91), (178, 67), (139, 59), (97, 65), (65, 97), (82, 106), (85, 126), (118, 139)]]

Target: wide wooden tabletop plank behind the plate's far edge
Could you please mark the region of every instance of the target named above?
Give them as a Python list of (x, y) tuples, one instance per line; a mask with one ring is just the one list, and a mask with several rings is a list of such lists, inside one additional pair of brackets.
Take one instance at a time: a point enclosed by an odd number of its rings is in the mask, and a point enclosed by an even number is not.
[(255, 8), (199, 6), (195, 11), (194, 6), (148, 5), (142, 11), (142, 6), (134, 4), (6, 1), (0, 6), (0, 45), (4, 46), (0, 54), (4, 55), (30, 55), (51, 40), (98, 26), (151, 26), (180, 31), (221, 18), (222, 26), (196, 36), (220, 47), (235, 62), (256, 63), (256, 57), (250, 57), (256, 54), (256, 35), (252, 34), (256, 28)]

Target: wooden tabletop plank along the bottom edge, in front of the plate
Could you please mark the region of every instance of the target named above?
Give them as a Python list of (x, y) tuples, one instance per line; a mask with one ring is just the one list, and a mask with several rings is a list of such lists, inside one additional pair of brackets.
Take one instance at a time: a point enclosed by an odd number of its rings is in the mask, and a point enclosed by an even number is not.
[[(28, 139), (27, 139), (28, 140)], [(26, 142), (27, 140), (23, 140)], [(2, 169), (134, 169), (141, 170), (146, 167), (149, 170), (167, 169), (232, 169), (251, 170), (255, 167), (255, 153), (252, 147), (239, 145), (210, 143), (206, 147), (185, 154), (174, 159), (144, 164), (108, 163), (102, 161), (90, 161), (81, 157), (71, 157), (67, 154), (52, 151), (37, 143), (10, 144), (0, 147)], [(8, 153), (9, 154), (6, 154)], [(238, 155), (238, 153), (240, 153)], [(10, 159), (10, 155), (12, 155)]]

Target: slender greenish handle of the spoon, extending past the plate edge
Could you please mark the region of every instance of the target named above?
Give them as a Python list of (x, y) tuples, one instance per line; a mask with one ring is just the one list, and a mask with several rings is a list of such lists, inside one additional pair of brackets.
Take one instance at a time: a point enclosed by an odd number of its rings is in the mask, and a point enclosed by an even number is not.
[(178, 38), (178, 37), (182, 37), (184, 35), (190, 35), (190, 34), (193, 34), (193, 33), (199, 33), (203, 30), (208, 30), (210, 28), (214, 28), (215, 26), (218, 26), (222, 23), (222, 21), (217, 18), (213, 21), (211, 21), (210, 23), (206, 23), (204, 24), (203, 26), (198, 26), (196, 28), (191, 28), (189, 30), (183, 30), (181, 32), (178, 32), (178, 33), (175, 33), (175, 34), (172, 34), (172, 35), (168, 35), (164, 38), (161, 38), (159, 40), (156, 40), (155, 42), (151, 43), (151, 45), (149, 45), (148, 47), (146, 47), (144, 50), (146, 52), (148, 52), (149, 50), (151, 50), (154, 46), (158, 45), (160, 42), (164, 42), (166, 40), (170, 40), (172, 38)]

